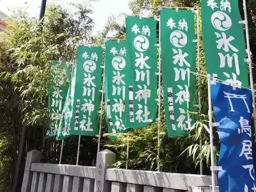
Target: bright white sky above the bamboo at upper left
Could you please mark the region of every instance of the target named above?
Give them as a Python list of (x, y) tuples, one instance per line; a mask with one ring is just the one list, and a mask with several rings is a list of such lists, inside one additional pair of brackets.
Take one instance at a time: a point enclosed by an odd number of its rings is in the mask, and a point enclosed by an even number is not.
[[(63, 7), (67, 7), (68, 2), (72, 3), (83, 3), (83, 0), (47, 0), (47, 3), (60, 4)], [(91, 16), (94, 19), (95, 30), (93, 34), (97, 34), (106, 24), (108, 17), (113, 15), (119, 15), (120, 13), (131, 14), (129, 9), (130, 0), (99, 0), (98, 2), (92, 3), (92, 9), (94, 11)], [(117, 6), (119, 5), (119, 6)], [(17, 7), (22, 9), (27, 9), (27, 12), (31, 17), (39, 17), (41, 0), (0, 0), (0, 10), (4, 13), (10, 15), (12, 10), (17, 9)], [(118, 21), (122, 22), (124, 17), (120, 18)]]

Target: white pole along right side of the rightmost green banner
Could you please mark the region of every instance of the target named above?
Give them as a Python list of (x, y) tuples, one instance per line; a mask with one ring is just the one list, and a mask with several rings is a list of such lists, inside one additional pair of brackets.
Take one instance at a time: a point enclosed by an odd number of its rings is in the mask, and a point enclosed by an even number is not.
[(243, 6), (244, 6), (246, 46), (247, 46), (248, 65), (249, 65), (249, 74), (250, 74), (250, 86), (251, 86), (251, 93), (252, 93), (253, 122), (254, 122), (254, 129), (256, 131), (256, 107), (255, 107), (255, 96), (254, 96), (252, 68), (251, 68), (251, 51), (250, 51), (250, 41), (249, 41), (248, 19), (247, 19), (246, 1), (245, 0), (243, 0), (243, 4), (244, 4)]

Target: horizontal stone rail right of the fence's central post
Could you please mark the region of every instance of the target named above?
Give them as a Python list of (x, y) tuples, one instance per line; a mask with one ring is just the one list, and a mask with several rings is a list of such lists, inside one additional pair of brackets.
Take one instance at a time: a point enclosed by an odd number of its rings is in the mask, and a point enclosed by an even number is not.
[(207, 186), (210, 176), (150, 172), (143, 170), (106, 169), (105, 180), (188, 190), (189, 186)]

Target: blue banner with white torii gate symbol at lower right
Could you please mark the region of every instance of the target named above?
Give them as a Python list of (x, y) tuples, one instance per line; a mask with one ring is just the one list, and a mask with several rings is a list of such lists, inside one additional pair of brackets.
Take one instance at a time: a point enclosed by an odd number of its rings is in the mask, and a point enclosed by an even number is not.
[(218, 166), (220, 192), (256, 191), (252, 159), (251, 91), (216, 83), (212, 104), (221, 149)]

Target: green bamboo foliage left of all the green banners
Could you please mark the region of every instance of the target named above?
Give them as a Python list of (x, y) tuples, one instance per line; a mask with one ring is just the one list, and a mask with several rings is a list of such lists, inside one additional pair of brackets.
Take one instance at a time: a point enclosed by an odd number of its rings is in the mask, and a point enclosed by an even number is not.
[[(71, 7), (76, 9), (75, 14), (49, 5), (44, 21), (17, 15), (20, 22), (6, 21), (7, 30), (0, 35), (0, 181), (6, 181), (1, 182), (0, 191), (10, 191), (22, 126), (28, 127), (23, 162), (33, 149), (46, 150), (42, 157), (45, 161), (57, 159), (54, 153), (58, 155), (59, 143), (44, 139), (49, 124), (50, 60), (75, 59), (76, 44), (92, 41), (94, 26), (88, 16), (92, 13), (89, 4)], [(76, 138), (70, 141), (76, 142)], [(22, 177), (20, 174), (19, 180)]]

